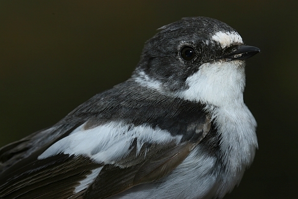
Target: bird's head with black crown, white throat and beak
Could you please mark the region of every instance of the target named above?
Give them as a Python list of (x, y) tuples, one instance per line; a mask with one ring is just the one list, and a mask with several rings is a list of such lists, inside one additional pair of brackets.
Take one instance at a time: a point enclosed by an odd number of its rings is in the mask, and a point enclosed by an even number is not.
[(242, 102), (244, 59), (258, 48), (244, 46), (235, 29), (207, 17), (182, 18), (159, 30), (145, 44), (135, 81), (215, 106)]

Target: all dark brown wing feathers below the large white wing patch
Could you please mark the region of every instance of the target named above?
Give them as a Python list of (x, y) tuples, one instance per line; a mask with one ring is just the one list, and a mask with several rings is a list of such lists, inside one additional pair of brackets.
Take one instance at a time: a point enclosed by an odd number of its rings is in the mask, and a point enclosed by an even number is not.
[[(189, 141), (164, 142), (134, 138), (124, 157), (113, 163), (98, 163), (90, 157), (56, 154), (33, 162), (22, 160), (22, 166), (0, 183), (1, 198), (107, 198), (133, 186), (158, 181), (173, 171), (192, 149), (208, 134), (210, 121), (196, 127)], [(140, 148), (141, 146), (141, 148)], [(30, 158), (30, 157), (29, 157)], [(84, 179), (102, 167), (88, 186), (76, 191)]]

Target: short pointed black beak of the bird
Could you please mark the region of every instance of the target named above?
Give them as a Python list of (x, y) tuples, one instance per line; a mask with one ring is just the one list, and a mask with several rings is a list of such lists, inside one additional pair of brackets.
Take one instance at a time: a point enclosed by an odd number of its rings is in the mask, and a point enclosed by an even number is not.
[(230, 60), (244, 60), (249, 57), (254, 56), (255, 54), (259, 53), (261, 50), (257, 47), (253, 46), (238, 46), (236, 50), (225, 56), (224, 58), (230, 59)]

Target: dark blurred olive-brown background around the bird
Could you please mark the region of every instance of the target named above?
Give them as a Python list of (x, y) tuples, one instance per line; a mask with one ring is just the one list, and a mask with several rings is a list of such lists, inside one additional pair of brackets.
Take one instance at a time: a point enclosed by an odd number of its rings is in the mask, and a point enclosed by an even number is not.
[(235, 28), (259, 150), (224, 198), (298, 198), (298, 1), (0, 1), (0, 147), (127, 78), (156, 29), (186, 16)]

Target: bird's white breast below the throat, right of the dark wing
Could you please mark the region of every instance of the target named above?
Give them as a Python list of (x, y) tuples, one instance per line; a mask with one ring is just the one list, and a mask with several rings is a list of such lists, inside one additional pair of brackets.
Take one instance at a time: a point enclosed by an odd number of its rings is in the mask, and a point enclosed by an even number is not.
[(221, 135), (220, 156), (225, 169), (218, 173), (221, 183), (217, 195), (223, 197), (240, 183), (244, 171), (254, 160), (258, 148), (257, 122), (245, 104), (209, 108)]

